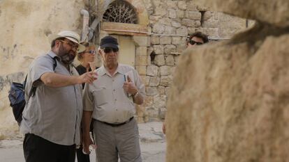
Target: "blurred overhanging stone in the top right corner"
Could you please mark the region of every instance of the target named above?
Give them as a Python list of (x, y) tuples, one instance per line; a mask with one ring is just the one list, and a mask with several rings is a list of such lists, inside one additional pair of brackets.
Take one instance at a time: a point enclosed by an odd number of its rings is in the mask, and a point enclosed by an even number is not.
[(202, 6), (210, 7), (212, 10), (218, 10), (230, 15), (246, 19), (256, 19), (260, 22), (268, 22), (276, 26), (289, 26), (288, 0), (229, 0), (225, 3), (223, 3), (223, 0), (207, 0), (198, 1), (198, 3)]

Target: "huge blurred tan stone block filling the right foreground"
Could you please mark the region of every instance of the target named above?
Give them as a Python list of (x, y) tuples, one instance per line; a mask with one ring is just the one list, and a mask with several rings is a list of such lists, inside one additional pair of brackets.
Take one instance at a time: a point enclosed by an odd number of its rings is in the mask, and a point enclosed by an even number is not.
[(289, 161), (288, 44), (288, 29), (260, 24), (182, 54), (168, 99), (167, 162)]

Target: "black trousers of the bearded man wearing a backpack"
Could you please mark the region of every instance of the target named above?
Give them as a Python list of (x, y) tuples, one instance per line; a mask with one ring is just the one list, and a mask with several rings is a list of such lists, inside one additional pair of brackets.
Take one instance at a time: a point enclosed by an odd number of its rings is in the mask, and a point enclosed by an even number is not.
[(26, 162), (75, 162), (75, 145), (58, 145), (31, 133), (23, 142)]

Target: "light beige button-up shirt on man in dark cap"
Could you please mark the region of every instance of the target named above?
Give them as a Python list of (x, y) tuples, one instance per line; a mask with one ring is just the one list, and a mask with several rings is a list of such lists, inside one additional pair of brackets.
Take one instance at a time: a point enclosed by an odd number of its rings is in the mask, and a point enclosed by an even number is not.
[(96, 72), (98, 79), (84, 87), (84, 111), (93, 111), (92, 118), (108, 123), (121, 123), (133, 117), (135, 104), (133, 96), (124, 91), (124, 75), (133, 74), (133, 82), (144, 97), (145, 87), (138, 72), (131, 66), (121, 64), (113, 76), (104, 66)]

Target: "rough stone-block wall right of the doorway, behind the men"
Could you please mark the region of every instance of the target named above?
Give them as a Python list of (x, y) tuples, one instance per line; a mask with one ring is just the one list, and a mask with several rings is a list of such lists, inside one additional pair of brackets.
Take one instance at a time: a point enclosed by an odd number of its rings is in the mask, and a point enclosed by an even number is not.
[(144, 3), (149, 13), (149, 31), (153, 33), (147, 50), (145, 112), (140, 114), (147, 122), (165, 118), (172, 74), (186, 49), (188, 34), (201, 31), (211, 40), (223, 40), (249, 24), (246, 19), (214, 12), (195, 1), (144, 0)]

